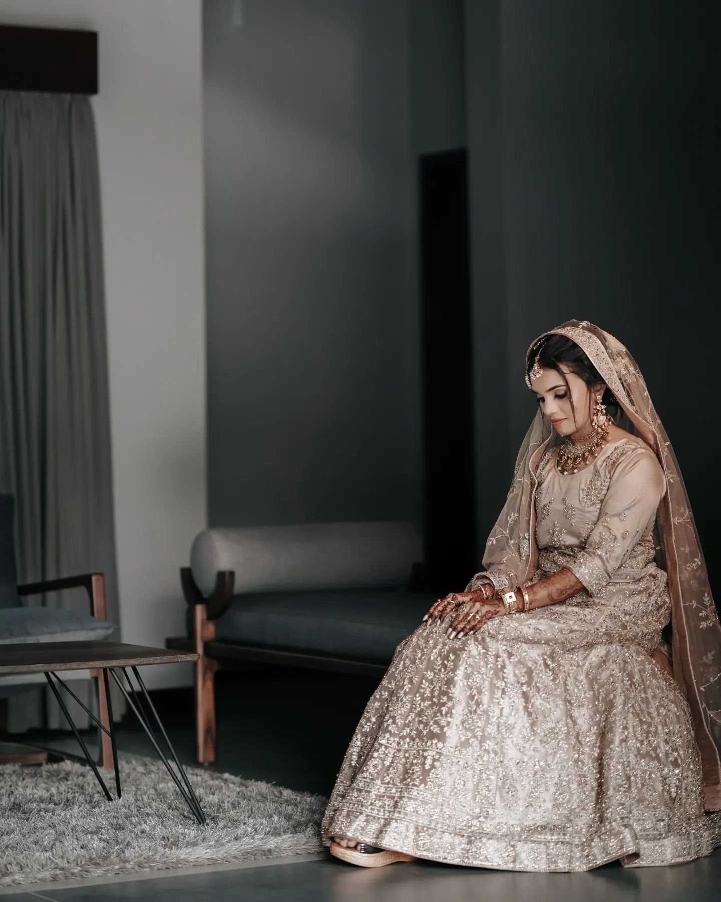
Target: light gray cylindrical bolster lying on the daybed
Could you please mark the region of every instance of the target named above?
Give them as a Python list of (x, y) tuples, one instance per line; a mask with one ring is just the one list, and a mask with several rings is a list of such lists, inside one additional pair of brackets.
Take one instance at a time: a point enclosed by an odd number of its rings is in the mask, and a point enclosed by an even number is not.
[(190, 551), (205, 596), (222, 570), (235, 594), (405, 586), (421, 560), (418, 530), (395, 521), (204, 529)]

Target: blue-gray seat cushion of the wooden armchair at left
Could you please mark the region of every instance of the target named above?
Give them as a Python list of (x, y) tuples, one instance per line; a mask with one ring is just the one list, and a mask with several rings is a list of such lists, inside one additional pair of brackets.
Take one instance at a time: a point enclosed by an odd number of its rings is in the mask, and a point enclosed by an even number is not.
[(2, 642), (80, 642), (105, 639), (114, 623), (59, 608), (9, 608), (0, 611)]

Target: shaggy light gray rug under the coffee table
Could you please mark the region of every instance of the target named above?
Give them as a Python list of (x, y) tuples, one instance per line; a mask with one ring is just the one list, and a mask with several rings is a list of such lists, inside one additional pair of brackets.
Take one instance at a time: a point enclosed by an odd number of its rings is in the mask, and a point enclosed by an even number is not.
[[(100, 771), (114, 796), (112, 770)], [(122, 755), (108, 802), (75, 761), (0, 766), (0, 886), (322, 851), (328, 800), (259, 780), (186, 768), (201, 826), (160, 761)]]

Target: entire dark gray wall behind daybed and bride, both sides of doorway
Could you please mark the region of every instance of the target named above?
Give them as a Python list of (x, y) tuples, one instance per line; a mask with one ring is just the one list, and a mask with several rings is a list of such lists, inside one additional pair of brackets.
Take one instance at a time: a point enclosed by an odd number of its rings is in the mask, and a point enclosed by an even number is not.
[(525, 348), (571, 317), (641, 364), (713, 548), (719, 73), (691, 7), (273, 0), (233, 32), (206, 0), (212, 523), (418, 518), (412, 152), (465, 139), (479, 557)]

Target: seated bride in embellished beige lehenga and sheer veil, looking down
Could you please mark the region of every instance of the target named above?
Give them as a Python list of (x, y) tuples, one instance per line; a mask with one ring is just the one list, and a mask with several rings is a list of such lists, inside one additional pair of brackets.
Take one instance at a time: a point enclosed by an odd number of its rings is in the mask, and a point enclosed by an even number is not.
[(587, 320), (525, 373), (539, 410), (486, 569), (397, 646), (342, 761), (322, 840), (344, 861), (569, 871), (721, 843), (721, 630), (671, 443)]

